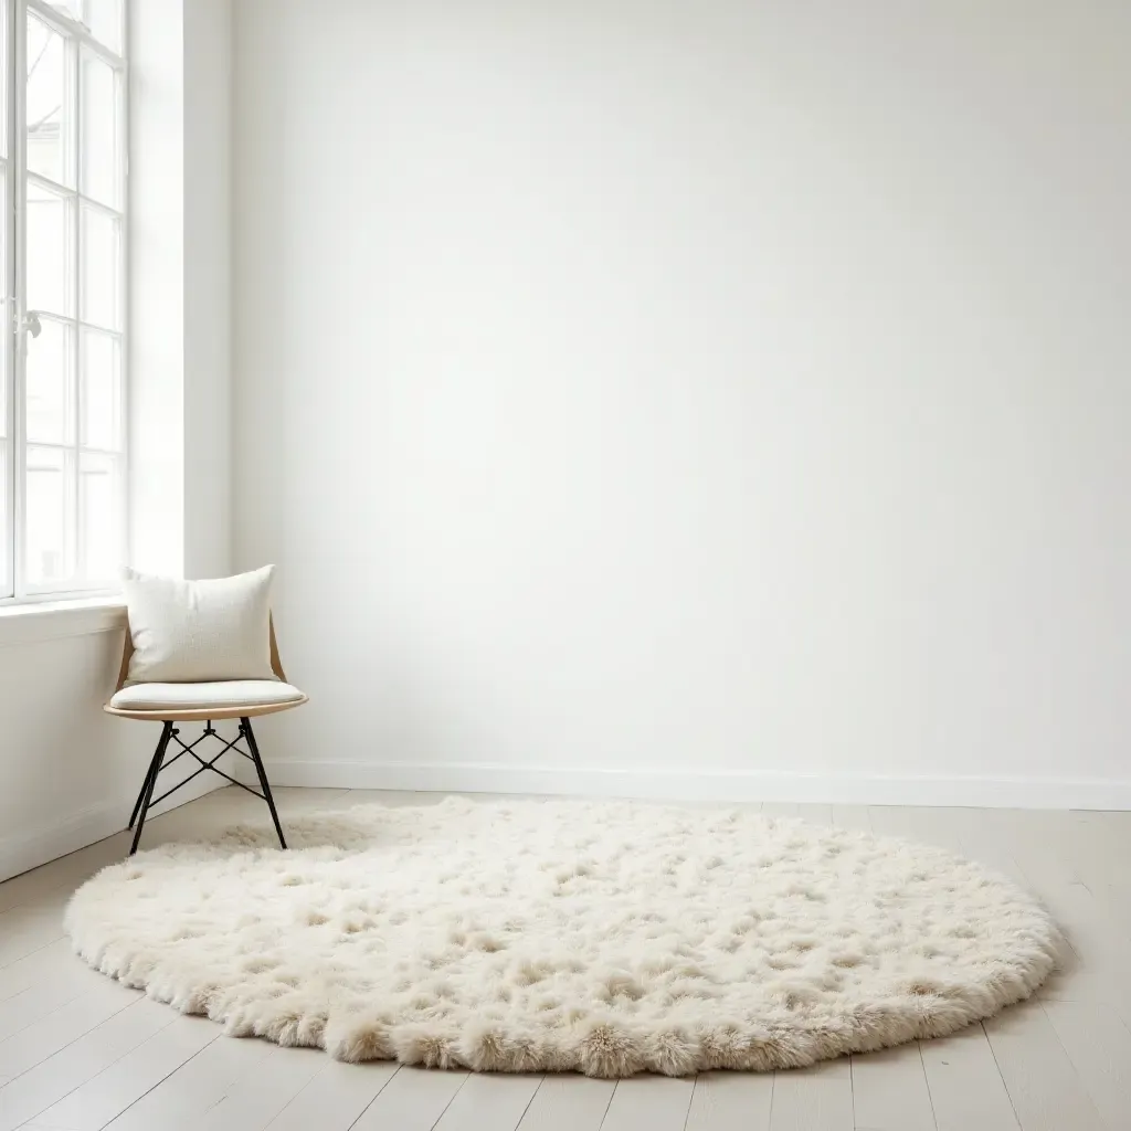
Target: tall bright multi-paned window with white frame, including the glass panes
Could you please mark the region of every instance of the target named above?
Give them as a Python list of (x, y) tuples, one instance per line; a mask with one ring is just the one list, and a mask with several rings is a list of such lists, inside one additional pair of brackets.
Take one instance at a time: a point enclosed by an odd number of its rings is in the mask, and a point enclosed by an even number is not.
[(123, 0), (0, 0), (0, 601), (126, 558)]

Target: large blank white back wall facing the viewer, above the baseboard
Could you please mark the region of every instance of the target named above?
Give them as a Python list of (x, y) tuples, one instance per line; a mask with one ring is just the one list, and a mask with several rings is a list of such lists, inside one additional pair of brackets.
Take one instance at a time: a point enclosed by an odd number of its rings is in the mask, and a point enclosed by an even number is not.
[(235, 60), (279, 780), (1131, 804), (1131, 7), (241, 0)]

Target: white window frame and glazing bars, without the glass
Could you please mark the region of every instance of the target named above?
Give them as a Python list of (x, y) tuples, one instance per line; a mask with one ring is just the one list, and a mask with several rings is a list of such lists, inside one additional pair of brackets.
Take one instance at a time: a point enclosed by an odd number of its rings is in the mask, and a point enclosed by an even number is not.
[[(6, 224), (6, 260), (5, 270), (7, 273), (7, 305), (9, 321), (5, 325), (3, 351), (7, 369), (6, 381), (6, 404), (0, 406), (0, 412), (7, 415), (7, 442), (6, 457), (7, 467), (0, 468), (0, 478), (7, 486), (7, 520), (0, 528), (0, 552), (7, 558), (7, 587), (0, 588), (0, 607), (32, 604), (36, 602), (58, 602), (69, 597), (90, 597), (98, 594), (116, 592), (113, 579), (92, 579), (89, 582), (69, 580), (61, 586), (33, 586), (26, 580), (26, 513), (25, 513), (25, 480), (27, 474), (27, 442), (26, 442), (26, 360), (27, 360), (27, 335), (29, 333), (28, 311), (26, 308), (26, 209), (27, 209), (27, 184), (28, 182), (41, 183), (50, 188), (52, 192), (64, 196), (71, 201), (74, 210), (74, 268), (75, 278), (70, 280), (71, 316), (64, 319), (53, 319), (71, 328), (72, 334), (72, 368), (71, 374), (74, 407), (71, 409), (75, 418), (74, 435), (69, 444), (60, 448), (70, 448), (75, 460), (74, 485), (77, 487), (80, 477), (80, 455), (84, 450), (97, 452), (97, 449), (85, 448), (81, 441), (81, 353), (83, 339), (81, 330), (90, 325), (80, 319), (81, 309), (79, 305), (79, 287), (83, 274), (83, 249), (81, 249), (81, 208), (83, 206), (94, 208), (104, 215), (112, 215), (119, 218), (120, 230), (120, 261), (118, 265), (118, 310), (120, 329), (111, 330), (107, 327), (90, 326), (101, 333), (111, 333), (119, 342), (119, 365), (120, 365), (120, 395), (119, 395), (119, 420), (118, 435), (120, 438), (120, 451), (113, 452), (118, 460), (118, 483), (120, 491), (119, 517), (121, 545), (119, 556), (122, 562), (128, 560), (129, 550), (129, 515), (128, 515), (128, 475), (129, 475), (129, 3), (122, 0), (122, 27), (121, 27), (121, 53), (116, 53), (105, 44), (95, 40), (87, 28), (71, 19), (58, 8), (52, 7), (46, 0), (0, 0), (2, 5), (2, 40), (0, 50), (7, 57), (8, 83), (7, 90), (0, 90), (0, 100), (3, 101), (7, 116), (8, 154), (3, 162), (3, 171), (0, 180), (3, 182), (5, 200), (7, 209), (5, 213)], [(25, 100), (26, 100), (26, 71), (27, 71), (27, 16), (28, 12), (35, 15), (37, 19), (64, 35), (75, 43), (76, 55), (80, 58), (81, 52), (88, 51), (98, 57), (103, 62), (109, 63), (119, 75), (118, 81), (118, 121), (121, 123), (121, 136), (119, 138), (118, 154), (118, 178), (120, 185), (119, 209), (109, 208), (103, 201), (94, 200), (81, 192), (79, 180), (79, 156), (81, 145), (81, 114), (79, 113), (80, 93), (78, 90), (80, 79), (80, 62), (76, 61), (71, 70), (71, 86), (69, 92), (70, 113), (74, 121), (74, 152), (70, 157), (75, 167), (75, 187), (68, 188), (57, 184), (48, 178), (27, 170), (27, 154), (24, 137)], [(34, 312), (32, 312), (34, 313)], [(0, 321), (3, 321), (0, 317)], [(81, 508), (78, 497), (75, 499), (74, 515), (71, 516), (75, 529), (71, 532), (75, 538), (76, 554), (79, 546), (79, 532), (81, 528)], [(77, 568), (76, 562), (76, 568)], [(10, 592), (9, 592), (10, 590)]]

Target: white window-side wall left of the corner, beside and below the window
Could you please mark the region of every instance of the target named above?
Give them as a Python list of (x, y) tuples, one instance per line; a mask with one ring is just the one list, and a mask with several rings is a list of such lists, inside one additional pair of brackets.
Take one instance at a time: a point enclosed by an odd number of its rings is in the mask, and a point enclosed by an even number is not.
[[(131, 3), (132, 559), (190, 577), (232, 559), (231, 28), (231, 0)], [(58, 616), (33, 640), (0, 614), (0, 879), (129, 819), (159, 728), (102, 714), (120, 620)]]

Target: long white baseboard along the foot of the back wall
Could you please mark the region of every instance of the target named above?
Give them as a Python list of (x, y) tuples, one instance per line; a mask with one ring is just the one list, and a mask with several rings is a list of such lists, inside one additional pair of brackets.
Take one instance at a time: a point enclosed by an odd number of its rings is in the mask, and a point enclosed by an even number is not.
[(498, 765), (268, 760), (273, 784), (330, 789), (520, 793), (659, 801), (772, 801), (975, 809), (1131, 810), (1131, 780), (891, 777), (741, 770), (606, 770)]

